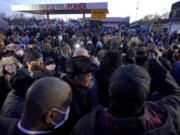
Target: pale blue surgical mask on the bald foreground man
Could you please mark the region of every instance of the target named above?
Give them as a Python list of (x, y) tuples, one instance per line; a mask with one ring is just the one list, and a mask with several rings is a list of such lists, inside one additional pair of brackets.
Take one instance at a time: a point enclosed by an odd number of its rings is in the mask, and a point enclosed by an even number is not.
[(59, 109), (57, 109), (57, 108), (54, 108), (54, 109), (52, 109), (52, 110), (57, 111), (57, 112), (65, 115), (65, 116), (64, 116), (64, 119), (63, 119), (60, 123), (51, 122), (51, 124), (54, 125), (54, 129), (57, 129), (57, 128), (59, 128), (60, 126), (62, 126), (62, 125), (65, 123), (65, 121), (68, 119), (68, 117), (69, 117), (69, 112), (70, 112), (70, 106), (68, 106), (66, 112), (63, 112), (63, 111), (61, 111), (61, 110), (59, 110)]

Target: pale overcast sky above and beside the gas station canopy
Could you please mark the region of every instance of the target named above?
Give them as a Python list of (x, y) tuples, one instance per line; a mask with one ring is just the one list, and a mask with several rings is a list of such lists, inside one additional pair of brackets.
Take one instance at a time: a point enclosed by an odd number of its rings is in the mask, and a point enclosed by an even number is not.
[[(134, 21), (148, 14), (163, 14), (165, 12), (169, 12), (172, 3), (175, 3), (177, 1), (178, 0), (0, 0), (0, 12), (12, 14), (12, 11), (10, 10), (11, 4), (108, 2), (108, 16), (130, 16), (131, 21)], [(137, 3), (139, 3), (138, 12)], [(71, 16), (68, 15), (68, 17)]]

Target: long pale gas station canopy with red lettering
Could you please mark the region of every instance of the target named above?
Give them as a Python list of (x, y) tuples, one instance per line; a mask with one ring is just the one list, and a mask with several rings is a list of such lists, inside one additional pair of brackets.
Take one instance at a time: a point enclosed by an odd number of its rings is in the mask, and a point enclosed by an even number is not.
[(108, 13), (108, 3), (12, 5), (11, 9), (33, 14), (91, 14), (92, 10), (105, 10)]

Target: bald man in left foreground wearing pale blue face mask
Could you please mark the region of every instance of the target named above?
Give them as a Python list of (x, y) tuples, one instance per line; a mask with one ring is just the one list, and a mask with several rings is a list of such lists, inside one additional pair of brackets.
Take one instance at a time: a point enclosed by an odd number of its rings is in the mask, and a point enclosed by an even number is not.
[(28, 89), (20, 120), (0, 118), (3, 135), (60, 135), (60, 128), (69, 117), (72, 91), (54, 77), (34, 82)]

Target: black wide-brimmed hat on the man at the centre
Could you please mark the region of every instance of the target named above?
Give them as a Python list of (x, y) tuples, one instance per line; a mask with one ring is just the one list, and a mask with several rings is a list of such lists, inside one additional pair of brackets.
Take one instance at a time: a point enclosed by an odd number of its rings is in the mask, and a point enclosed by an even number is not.
[(98, 66), (95, 65), (90, 58), (86, 56), (76, 56), (66, 61), (65, 72), (73, 75), (90, 73), (97, 71)]

